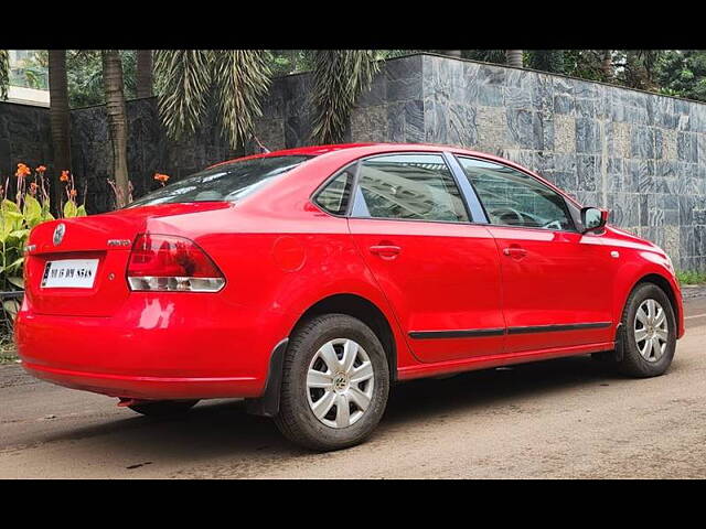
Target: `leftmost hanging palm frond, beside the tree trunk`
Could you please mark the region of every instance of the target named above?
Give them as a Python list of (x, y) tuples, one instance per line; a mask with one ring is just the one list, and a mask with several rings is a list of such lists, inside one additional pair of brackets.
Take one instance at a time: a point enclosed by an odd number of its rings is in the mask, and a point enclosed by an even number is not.
[(214, 52), (208, 50), (157, 50), (154, 77), (159, 116), (171, 139), (193, 134), (206, 110), (213, 79)]

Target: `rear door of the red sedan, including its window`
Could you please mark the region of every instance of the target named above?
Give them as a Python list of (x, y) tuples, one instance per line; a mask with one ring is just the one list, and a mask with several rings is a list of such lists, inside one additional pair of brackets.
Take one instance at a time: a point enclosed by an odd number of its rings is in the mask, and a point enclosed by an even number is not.
[(443, 155), (360, 161), (350, 231), (421, 361), (502, 353), (498, 248), (469, 220)]

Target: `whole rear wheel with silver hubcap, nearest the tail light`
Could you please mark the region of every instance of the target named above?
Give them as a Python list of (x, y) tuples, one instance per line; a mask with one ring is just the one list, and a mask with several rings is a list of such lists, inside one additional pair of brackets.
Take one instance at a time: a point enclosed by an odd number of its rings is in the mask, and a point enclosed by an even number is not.
[(344, 314), (318, 316), (289, 343), (275, 422), (308, 449), (345, 449), (373, 432), (388, 391), (387, 358), (375, 333)]

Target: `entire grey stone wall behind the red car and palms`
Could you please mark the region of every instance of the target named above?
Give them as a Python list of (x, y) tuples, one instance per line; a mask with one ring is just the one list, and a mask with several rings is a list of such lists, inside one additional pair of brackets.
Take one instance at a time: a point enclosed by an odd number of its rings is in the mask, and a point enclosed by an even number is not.
[[(311, 75), (275, 79), (256, 125), (270, 150), (309, 143)], [(234, 158), (210, 116), (188, 142), (167, 141), (153, 98), (128, 101), (135, 195), (154, 172), (180, 179)], [(345, 141), (430, 142), (500, 154), (533, 169), (611, 222), (706, 270), (706, 105), (527, 69), (436, 55), (387, 61), (354, 109)], [(110, 208), (103, 107), (72, 111), (72, 160), (90, 213)], [(46, 109), (0, 104), (0, 176), (51, 163)], [(79, 184), (83, 187), (83, 184)], [(83, 190), (82, 190), (83, 191)]]

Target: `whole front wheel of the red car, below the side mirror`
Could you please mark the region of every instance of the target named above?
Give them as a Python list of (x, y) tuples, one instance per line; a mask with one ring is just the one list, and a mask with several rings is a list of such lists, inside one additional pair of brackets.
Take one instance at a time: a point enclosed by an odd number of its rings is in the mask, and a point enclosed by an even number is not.
[(631, 377), (656, 377), (672, 364), (676, 319), (664, 291), (653, 283), (638, 285), (622, 313), (622, 359), (618, 369)]

